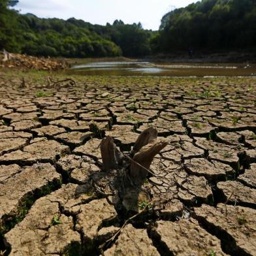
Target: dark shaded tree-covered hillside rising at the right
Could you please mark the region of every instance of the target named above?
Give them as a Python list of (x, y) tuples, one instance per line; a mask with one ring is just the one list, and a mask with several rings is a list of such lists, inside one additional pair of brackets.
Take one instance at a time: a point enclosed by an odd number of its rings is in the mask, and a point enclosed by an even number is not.
[(202, 0), (167, 13), (153, 39), (155, 52), (234, 50), (256, 46), (255, 0)]

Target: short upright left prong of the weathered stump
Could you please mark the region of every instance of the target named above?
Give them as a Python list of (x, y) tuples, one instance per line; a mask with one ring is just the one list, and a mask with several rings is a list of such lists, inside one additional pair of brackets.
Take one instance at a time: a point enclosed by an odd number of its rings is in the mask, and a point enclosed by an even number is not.
[(116, 148), (116, 144), (110, 136), (106, 136), (101, 141), (101, 157), (103, 159), (103, 169), (105, 172), (118, 167), (121, 152)]

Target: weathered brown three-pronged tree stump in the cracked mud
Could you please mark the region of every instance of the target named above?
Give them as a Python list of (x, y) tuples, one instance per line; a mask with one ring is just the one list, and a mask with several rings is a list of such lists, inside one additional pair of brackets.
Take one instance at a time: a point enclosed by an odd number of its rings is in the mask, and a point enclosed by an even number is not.
[(97, 181), (97, 184), (110, 187), (107, 191), (114, 191), (115, 201), (120, 202), (121, 207), (137, 211), (138, 200), (141, 197), (149, 199), (148, 193), (142, 191), (142, 184), (151, 172), (153, 158), (167, 144), (158, 142), (157, 130), (150, 127), (138, 136), (131, 153), (125, 155), (118, 150), (113, 138), (106, 136), (101, 142), (101, 157), (106, 177), (101, 182)]

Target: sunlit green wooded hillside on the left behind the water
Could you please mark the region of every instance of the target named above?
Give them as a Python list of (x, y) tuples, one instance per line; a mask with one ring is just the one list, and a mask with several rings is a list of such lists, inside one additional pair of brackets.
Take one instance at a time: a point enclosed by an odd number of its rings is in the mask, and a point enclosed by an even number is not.
[(10, 7), (18, 1), (0, 0), (0, 49), (33, 56), (114, 57), (150, 54), (152, 31), (139, 24), (92, 25), (70, 18), (37, 18)]

